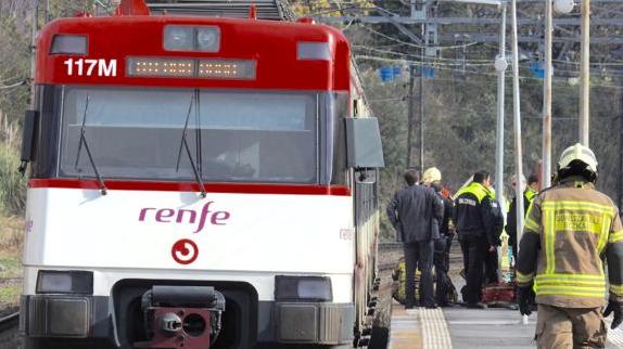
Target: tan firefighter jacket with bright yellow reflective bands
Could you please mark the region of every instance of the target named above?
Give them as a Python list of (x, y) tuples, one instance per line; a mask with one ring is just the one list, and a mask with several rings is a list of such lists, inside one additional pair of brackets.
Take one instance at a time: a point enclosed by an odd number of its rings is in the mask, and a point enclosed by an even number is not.
[(538, 303), (563, 308), (623, 301), (623, 227), (619, 209), (592, 183), (570, 178), (538, 194), (529, 209), (517, 261), (520, 286)]

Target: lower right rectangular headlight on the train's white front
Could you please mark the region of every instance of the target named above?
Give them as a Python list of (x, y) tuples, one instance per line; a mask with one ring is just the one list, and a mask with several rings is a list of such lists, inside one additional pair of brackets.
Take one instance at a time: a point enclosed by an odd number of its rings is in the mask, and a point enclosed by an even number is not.
[(278, 301), (331, 301), (331, 279), (326, 276), (275, 276)]

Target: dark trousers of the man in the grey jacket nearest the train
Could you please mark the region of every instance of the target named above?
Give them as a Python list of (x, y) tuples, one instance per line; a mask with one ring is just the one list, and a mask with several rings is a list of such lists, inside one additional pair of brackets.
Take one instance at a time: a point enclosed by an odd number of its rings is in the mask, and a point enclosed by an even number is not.
[(433, 306), (433, 241), (404, 244), (405, 249), (405, 307), (416, 305), (416, 268), (420, 270), (420, 306)]

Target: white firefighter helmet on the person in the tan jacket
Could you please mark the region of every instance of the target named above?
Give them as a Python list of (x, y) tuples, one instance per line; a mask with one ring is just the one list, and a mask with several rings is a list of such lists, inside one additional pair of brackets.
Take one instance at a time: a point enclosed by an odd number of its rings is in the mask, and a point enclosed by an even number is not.
[(592, 182), (597, 180), (597, 157), (589, 147), (580, 143), (565, 148), (558, 160), (559, 179), (573, 174)]

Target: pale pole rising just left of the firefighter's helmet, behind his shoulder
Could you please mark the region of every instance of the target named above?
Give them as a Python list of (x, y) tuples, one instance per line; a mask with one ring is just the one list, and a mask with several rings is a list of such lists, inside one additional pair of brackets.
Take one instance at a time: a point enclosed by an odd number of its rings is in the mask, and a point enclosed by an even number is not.
[(554, 35), (551, 0), (545, 0), (545, 78), (543, 83), (543, 141), (541, 188), (551, 185), (551, 46)]

